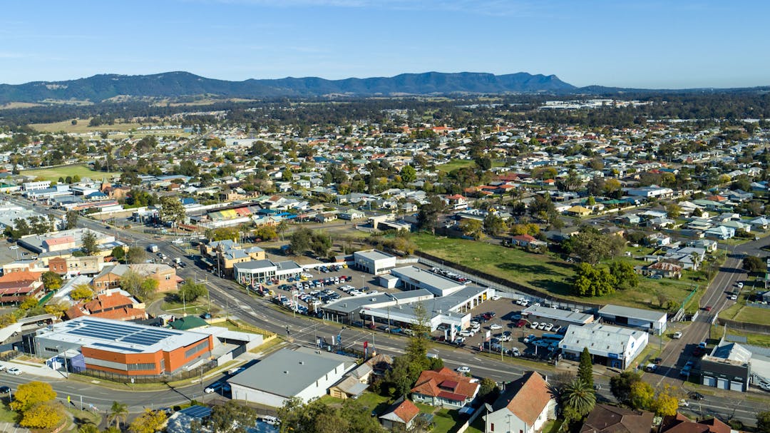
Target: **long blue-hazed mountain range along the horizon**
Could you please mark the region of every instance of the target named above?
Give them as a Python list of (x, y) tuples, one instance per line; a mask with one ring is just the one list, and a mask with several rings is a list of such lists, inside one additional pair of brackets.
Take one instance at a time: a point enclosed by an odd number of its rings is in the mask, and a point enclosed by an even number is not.
[(619, 92), (720, 92), (768, 89), (679, 89), (647, 90), (617, 87), (575, 87), (557, 76), (527, 72), (496, 76), (484, 72), (423, 72), (393, 77), (365, 79), (247, 79), (225, 81), (196, 76), (189, 72), (166, 72), (149, 76), (104, 74), (84, 79), (55, 82), (0, 84), (0, 104), (8, 102), (105, 102), (131, 99), (189, 99), (207, 97), (274, 98), (281, 96), (403, 96), (448, 95), (461, 93), (561, 93), (611, 94)]

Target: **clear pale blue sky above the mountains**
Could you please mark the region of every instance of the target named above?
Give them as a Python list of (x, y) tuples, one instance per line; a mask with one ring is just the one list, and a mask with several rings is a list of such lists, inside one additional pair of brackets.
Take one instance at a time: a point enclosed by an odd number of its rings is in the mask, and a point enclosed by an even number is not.
[(0, 82), (472, 71), (575, 86), (768, 86), (768, 12), (770, 2), (741, 0), (4, 2)]

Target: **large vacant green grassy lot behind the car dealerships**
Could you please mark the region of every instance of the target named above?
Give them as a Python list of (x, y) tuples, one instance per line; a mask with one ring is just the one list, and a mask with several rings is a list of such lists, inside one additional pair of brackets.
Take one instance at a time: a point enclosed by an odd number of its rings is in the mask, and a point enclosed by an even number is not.
[[(585, 300), (598, 304), (619, 304), (629, 307), (658, 308), (659, 297), (681, 301), (691, 292), (690, 281), (651, 280), (640, 278), (638, 287), (618, 291), (604, 297), (582, 298), (570, 294), (570, 279), (574, 277), (573, 263), (567, 263), (551, 254), (533, 254), (515, 248), (500, 247), (474, 240), (434, 237), (420, 233), (413, 237), (417, 249), (463, 264), (496, 277), (505, 278), (532, 287), (544, 294), (554, 294), (571, 300)], [(624, 257), (634, 265), (643, 262)], [(701, 282), (701, 286), (704, 283)], [(701, 287), (702, 288), (702, 287)], [(702, 290), (698, 290), (699, 293)], [(697, 308), (698, 295), (691, 301)]]

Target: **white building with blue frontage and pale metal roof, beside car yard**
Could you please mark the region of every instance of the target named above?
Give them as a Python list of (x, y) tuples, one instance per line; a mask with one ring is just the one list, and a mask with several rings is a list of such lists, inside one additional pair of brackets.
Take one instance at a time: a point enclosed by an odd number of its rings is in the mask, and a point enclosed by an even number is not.
[(625, 369), (631, 366), (647, 346), (648, 337), (646, 331), (594, 322), (584, 326), (567, 327), (567, 333), (559, 342), (559, 347), (564, 357), (574, 360), (579, 359), (583, 349), (588, 347), (594, 364)]

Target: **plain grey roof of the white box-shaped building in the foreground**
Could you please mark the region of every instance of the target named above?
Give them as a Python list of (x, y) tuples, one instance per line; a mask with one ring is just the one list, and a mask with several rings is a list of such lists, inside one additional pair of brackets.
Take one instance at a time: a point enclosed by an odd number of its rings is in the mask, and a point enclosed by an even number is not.
[(229, 378), (231, 384), (291, 398), (335, 368), (340, 376), (356, 365), (352, 357), (326, 351), (281, 349)]

